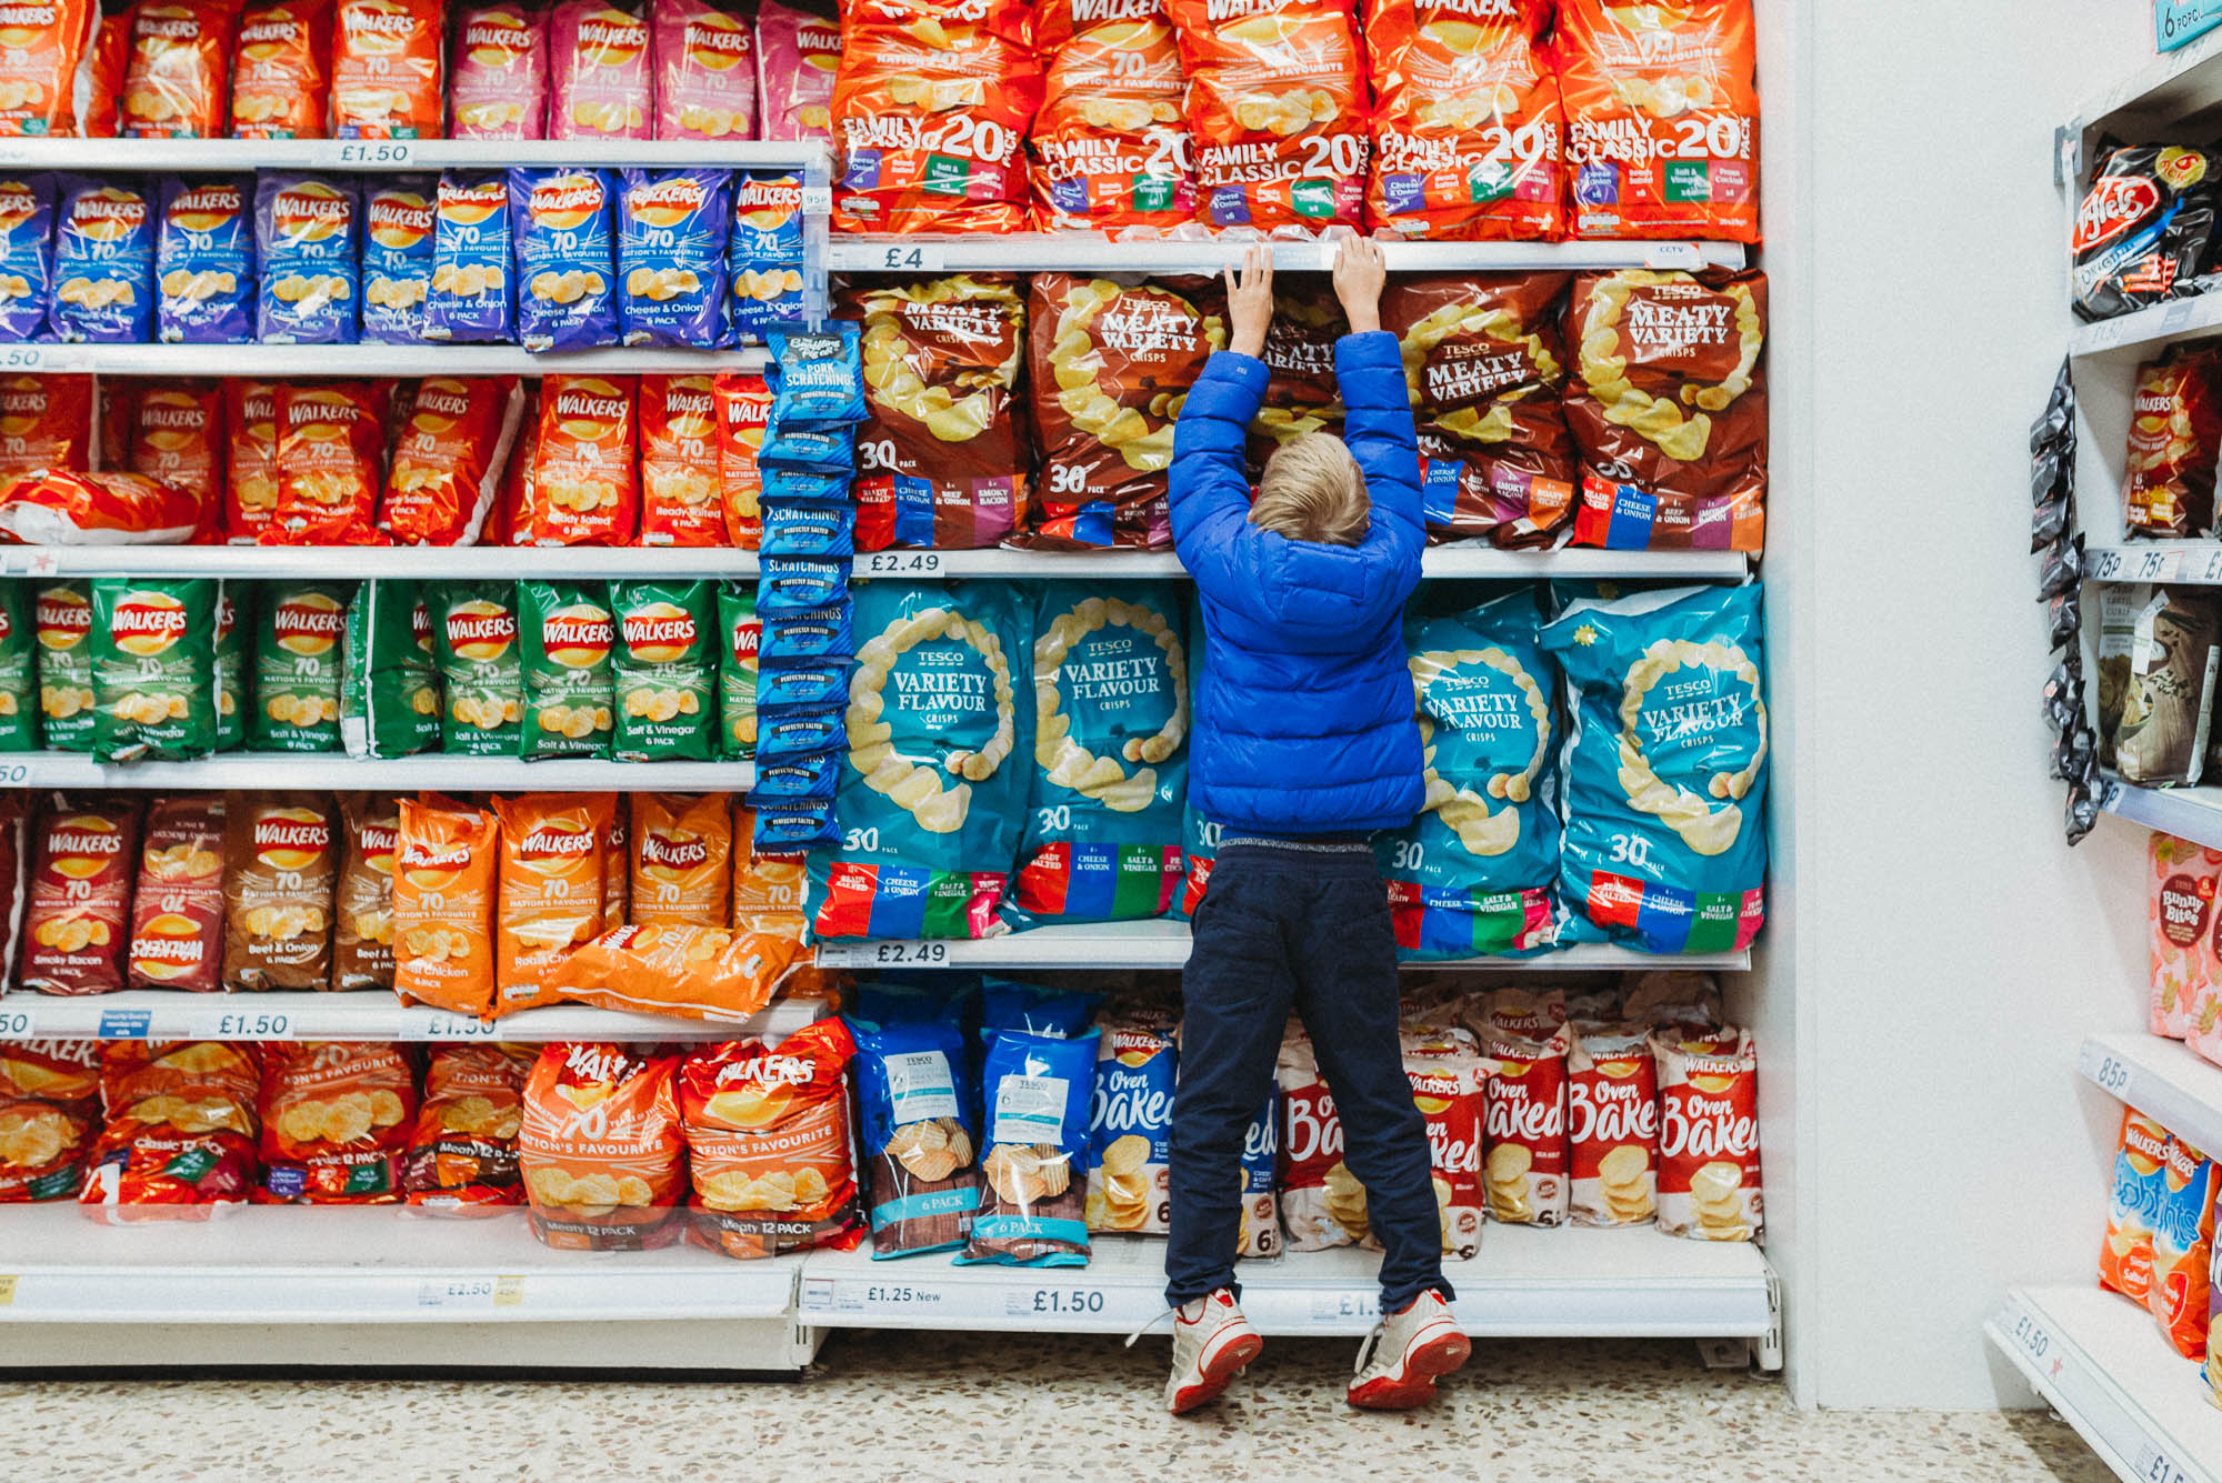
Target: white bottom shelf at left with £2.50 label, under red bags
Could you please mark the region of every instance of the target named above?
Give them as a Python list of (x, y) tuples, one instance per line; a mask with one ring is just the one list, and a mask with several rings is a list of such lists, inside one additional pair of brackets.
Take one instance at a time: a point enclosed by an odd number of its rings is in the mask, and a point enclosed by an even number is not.
[(600, 1323), (784, 1319), (798, 1259), (693, 1245), (553, 1252), (522, 1212), (227, 1210), (100, 1225), (76, 1201), (0, 1221), (0, 1323)]

